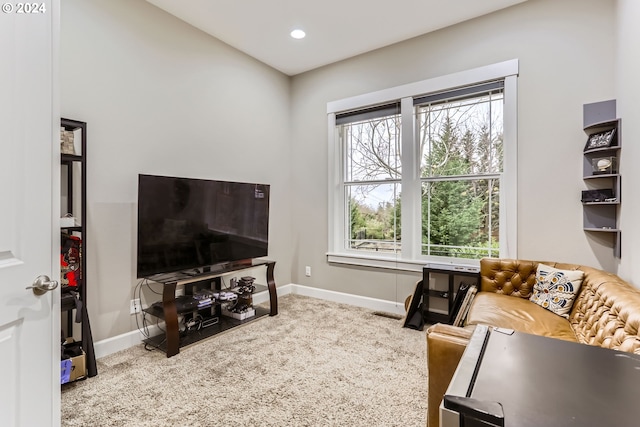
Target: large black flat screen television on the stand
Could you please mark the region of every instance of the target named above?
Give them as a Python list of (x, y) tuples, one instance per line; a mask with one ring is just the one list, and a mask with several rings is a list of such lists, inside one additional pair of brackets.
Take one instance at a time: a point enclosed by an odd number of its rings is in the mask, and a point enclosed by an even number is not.
[(138, 176), (139, 278), (267, 255), (269, 185)]

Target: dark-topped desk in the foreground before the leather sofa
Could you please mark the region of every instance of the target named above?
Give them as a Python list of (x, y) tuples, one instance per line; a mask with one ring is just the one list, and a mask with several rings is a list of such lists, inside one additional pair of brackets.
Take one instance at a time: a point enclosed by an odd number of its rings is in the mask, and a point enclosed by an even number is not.
[[(478, 327), (446, 394), (499, 402), (509, 427), (635, 426), (640, 356)], [(446, 406), (442, 426), (461, 425)]]

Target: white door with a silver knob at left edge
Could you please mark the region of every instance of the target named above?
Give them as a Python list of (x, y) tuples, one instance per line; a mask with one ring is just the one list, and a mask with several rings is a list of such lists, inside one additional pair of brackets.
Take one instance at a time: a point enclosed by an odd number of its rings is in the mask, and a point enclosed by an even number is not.
[(25, 288), (60, 275), (59, 3), (0, 3), (0, 425), (47, 427), (60, 424), (60, 290)]

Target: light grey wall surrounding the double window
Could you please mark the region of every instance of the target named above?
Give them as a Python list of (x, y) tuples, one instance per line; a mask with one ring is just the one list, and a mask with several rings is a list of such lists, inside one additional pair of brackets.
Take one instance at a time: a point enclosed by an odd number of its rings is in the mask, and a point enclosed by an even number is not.
[(612, 247), (583, 232), (580, 204), (582, 105), (615, 97), (614, 6), (530, 0), (295, 76), (293, 281), (402, 301), (419, 277), (327, 264), (326, 103), (509, 59), (520, 61), (519, 257), (615, 270)]

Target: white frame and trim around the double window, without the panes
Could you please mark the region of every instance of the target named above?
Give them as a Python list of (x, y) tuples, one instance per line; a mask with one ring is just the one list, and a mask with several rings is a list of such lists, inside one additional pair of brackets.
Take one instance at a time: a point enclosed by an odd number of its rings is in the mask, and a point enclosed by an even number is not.
[[(403, 194), (420, 194), (420, 177), (418, 173), (420, 159), (406, 155), (406, 153), (416, 152), (416, 121), (413, 99), (429, 93), (442, 92), (499, 79), (504, 80), (504, 159), (503, 172), (500, 179), (500, 257), (517, 258), (518, 67), (518, 60), (512, 59), (327, 103), (329, 143), (328, 262), (394, 270), (421, 271), (426, 262), (435, 260), (422, 255), (420, 251), (420, 199), (418, 197), (404, 197), (402, 199), (402, 250), (399, 254), (378, 254), (344, 247), (345, 221), (347, 221), (342, 186), (344, 182), (344, 151), (338, 143), (339, 135), (336, 127), (336, 115), (345, 111), (360, 110), (400, 100), (403, 152), (402, 192)], [(407, 159), (410, 161), (407, 161)], [(444, 261), (457, 265), (478, 265), (478, 260), (461, 258), (443, 260), (442, 257), (438, 257), (437, 260), (438, 262)]]

